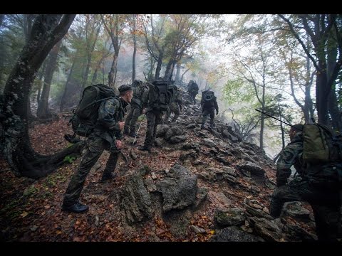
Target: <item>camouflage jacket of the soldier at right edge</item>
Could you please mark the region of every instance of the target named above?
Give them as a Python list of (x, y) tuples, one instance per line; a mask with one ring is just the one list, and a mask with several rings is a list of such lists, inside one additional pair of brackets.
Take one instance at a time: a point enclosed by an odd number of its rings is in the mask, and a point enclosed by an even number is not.
[(287, 178), (291, 175), (291, 166), (294, 166), (298, 174), (303, 177), (302, 154), (303, 135), (301, 132), (298, 132), (279, 154), (279, 159), (276, 162), (276, 186), (286, 184)]

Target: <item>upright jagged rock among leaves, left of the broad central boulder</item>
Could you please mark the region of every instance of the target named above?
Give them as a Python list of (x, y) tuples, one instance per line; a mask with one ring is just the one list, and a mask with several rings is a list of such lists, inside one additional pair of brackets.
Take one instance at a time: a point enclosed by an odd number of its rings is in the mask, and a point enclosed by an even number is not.
[(150, 193), (144, 186), (142, 176), (137, 173), (128, 178), (120, 193), (120, 206), (125, 211), (128, 223), (138, 223), (152, 218)]

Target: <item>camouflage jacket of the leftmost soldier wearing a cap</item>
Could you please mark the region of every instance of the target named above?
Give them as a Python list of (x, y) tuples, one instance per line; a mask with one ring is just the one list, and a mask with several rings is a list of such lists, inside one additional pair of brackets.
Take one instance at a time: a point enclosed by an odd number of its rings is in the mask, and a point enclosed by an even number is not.
[(98, 119), (93, 134), (115, 146), (115, 139), (123, 137), (118, 122), (123, 122), (126, 105), (128, 103), (116, 97), (104, 100), (98, 108)]

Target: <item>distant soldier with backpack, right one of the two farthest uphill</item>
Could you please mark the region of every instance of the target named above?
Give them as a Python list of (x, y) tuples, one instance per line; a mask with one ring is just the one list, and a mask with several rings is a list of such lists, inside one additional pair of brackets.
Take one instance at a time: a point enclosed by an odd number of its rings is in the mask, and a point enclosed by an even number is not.
[(202, 92), (201, 99), (201, 107), (202, 107), (202, 125), (201, 129), (204, 129), (205, 121), (207, 120), (208, 115), (210, 116), (210, 128), (214, 128), (214, 116), (215, 110), (216, 114), (219, 114), (219, 106), (217, 105), (217, 99), (214, 95), (214, 92), (211, 90), (205, 90)]

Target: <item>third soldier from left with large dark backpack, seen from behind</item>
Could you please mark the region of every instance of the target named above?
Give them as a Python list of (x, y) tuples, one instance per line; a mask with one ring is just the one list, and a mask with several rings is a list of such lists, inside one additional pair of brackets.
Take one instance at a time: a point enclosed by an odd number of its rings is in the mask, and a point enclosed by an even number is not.
[(150, 92), (146, 110), (146, 137), (144, 145), (138, 148), (142, 151), (151, 150), (155, 142), (157, 125), (162, 121), (162, 114), (167, 111), (173, 95), (172, 87), (169, 87), (169, 82), (165, 80), (154, 80), (152, 84), (147, 83), (147, 85), (150, 87)]

